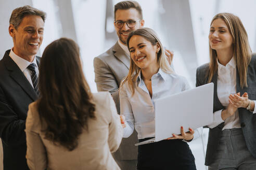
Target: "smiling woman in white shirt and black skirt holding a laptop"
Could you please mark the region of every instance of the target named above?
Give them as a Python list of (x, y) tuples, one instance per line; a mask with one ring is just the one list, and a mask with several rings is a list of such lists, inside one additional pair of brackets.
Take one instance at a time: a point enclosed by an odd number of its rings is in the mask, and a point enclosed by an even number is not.
[[(155, 137), (153, 100), (189, 89), (187, 80), (173, 73), (156, 33), (144, 28), (130, 33), (130, 70), (120, 88), (120, 106), (124, 137), (134, 127), (139, 142)], [(122, 118), (121, 116), (121, 118)], [(195, 159), (185, 140), (194, 137), (194, 130), (156, 143), (138, 146), (137, 169), (196, 169)], [(198, 133), (197, 133), (198, 135)], [(198, 135), (199, 136), (199, 135)], [(195, 137), (196, 138), (196, 137)], [(184, 140), (182, 140), (184, 139)]]

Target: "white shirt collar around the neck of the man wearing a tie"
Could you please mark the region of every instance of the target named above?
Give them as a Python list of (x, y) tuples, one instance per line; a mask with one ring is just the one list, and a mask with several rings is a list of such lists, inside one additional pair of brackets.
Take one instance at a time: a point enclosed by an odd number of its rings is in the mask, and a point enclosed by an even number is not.
[(31, 64), (34, 63), (36, 66), (36, 57), (34, 57), (34, 60), (32, 62), (29, 62), (25, 59), (22, 59), (20, 56), (18, 56), (17, 54), (14, 53), (14, 51), (12, 51), (12, 49), (10, 50), (9, 53), (10, 58), (18, 65), (18, 67), (20, 68), (21, 72), (24, 72), (24, 70)]

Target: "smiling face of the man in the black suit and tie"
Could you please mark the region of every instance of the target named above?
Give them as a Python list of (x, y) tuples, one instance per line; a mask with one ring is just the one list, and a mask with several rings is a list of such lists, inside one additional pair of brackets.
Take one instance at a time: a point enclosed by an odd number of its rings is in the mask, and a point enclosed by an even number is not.
[(9, 34), (14, 41), (14, 53), (31, 62), (43, 41), (44, 21), (40, 16), (25, 16), (17, 30), (10, 24)]

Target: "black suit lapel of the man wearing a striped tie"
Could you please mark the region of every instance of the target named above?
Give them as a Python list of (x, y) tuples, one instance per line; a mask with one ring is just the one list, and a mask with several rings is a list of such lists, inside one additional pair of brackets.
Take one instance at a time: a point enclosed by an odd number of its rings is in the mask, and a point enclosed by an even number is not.
[(10, 72), (10, 77), (19, 84), (19, 86), (32, 98), (33, 101), (35, 101), (38, 97), (35, 90), (29, 83), (28, 79), (21, 72), (17, 64), (10, 58), (9, 52), (10, 51), (5, 52), (3, 61), (6, 65), (6, 68)]

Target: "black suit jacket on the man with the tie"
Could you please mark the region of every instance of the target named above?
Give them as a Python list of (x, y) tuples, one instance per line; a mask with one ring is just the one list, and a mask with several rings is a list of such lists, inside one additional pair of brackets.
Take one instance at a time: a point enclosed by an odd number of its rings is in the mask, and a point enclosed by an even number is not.
[[(4, 169), (29, 169), (24, 129), (28, 106), (37, 99), (37, 94), (9, 53), (7, 50), (0, 60), (0, 137)], [(39, 61), (36, 57), (37, 64)]]

